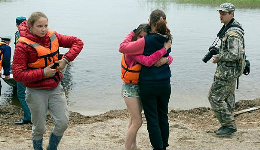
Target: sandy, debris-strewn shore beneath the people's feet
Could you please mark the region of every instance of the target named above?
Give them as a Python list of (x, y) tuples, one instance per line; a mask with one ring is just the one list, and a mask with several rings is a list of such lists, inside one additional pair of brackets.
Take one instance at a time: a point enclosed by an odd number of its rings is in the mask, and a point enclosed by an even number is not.
[[(260, 106), (260, 98), (240, 100), (235, 111)], [(22, 109), (14, 105), (0, 106), (0, 149), (33, 149), (31, 124), (15, 125), (22, 118)], [(167, 149), (260, 149), (260, 110), (243, 113), (235, 117), (238, 131), (228, 136), (217, 136), (213, 132), (219, 127), (210, 108), (170, 110), (170, 137)], [(110, 110), (101, 115), (85, 116), (70, 112), (70, 125), (58, 149), (124, 149), (129, 114), (124, 110)], [(48, 145), (52, 117), (47, 116), (47, 132), (43, 138), (43, 149)], [(141, 149), (152, 149), (147, 124), (137, 134), (137, 145)]]

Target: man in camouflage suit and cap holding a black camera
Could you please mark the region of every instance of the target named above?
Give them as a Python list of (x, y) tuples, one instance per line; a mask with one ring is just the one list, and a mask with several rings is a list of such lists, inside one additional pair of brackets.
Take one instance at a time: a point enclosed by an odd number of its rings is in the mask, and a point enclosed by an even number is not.
[[(234, 17), (235, 7), (231, 3), (220, 5), (220, 21), (225, 27), (230, 24), (237, 24)], [(245, 68), (244, 54), (244, 32), (239, 27), (229, 28), (223, 35), (219, 54), (213, 55), (212, 63), (217, 63), (216, 72), (211, 88), (208, 92), (208, 99), (216, 118), (221, 127), (215, 130), (217, 135), (228, 135), (236, 132), (236, 123), (233, 117), (235, 104), (235, 82), (243, 74)]]

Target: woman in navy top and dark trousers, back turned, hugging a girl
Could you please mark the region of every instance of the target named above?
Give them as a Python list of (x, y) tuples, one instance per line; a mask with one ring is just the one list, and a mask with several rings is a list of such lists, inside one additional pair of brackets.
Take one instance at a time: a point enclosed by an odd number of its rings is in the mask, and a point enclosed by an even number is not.
[[(122, 42), (119, 51), (124, 54), (144, 54), (149, 56), (164, 43), (172, 39), (167, 27), (166, 15), (161, 10), (150, 14), (151, 33), (134, 42)], [(167, 57), (171, 48), (163, 57)], [(150, 142), (153, 149), (166, 149), (169, 146), (168, 103), (171, 94), (171, 71), (168, 64), (159, 67), (142, 65), (140, 72), (140, 99), (147, 121)]]

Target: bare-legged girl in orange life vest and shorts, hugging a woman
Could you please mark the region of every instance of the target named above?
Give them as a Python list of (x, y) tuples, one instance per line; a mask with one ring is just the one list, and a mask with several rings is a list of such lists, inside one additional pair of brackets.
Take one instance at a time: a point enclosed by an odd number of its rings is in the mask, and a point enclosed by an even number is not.
[[(137, 29), (131, 31), (126, 38), (125, 42), (136, 41), (150, 33), (149, 24), (140, 24)], [(171, 47), (171, 41), (164, 43), (164, 47), (154, 52), (150, 56), (145, 55), (122, 55), (121, 61), (121, 78), (124, 81), (122, 85), (122, 97), (127, 105), (130, 113), (130, 122), (128, 125), (128, 132), (125, 140), (125, 149), (140, 149), (137, 148), (136, 135), (137, 131), (142, 125), (142, 104), (139, 98), (139, 74), (141, 65), (152, 66), (161, 57), (167, 53), (167, 50)], [(165, 57), (168, 65), (172, 62), (172, 57)], [(166, 63), (165, 62), (165, 63)]]

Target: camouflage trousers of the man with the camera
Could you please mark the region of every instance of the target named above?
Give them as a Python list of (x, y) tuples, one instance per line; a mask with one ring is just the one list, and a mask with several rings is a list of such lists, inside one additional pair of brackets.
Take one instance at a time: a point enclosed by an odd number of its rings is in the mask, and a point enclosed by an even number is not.
[(222, 126), (236, 128), (233, 117), (234, 112), (234, 90), (236, 80), (226, 81), (214, 77), (214, 81), (208, 92), (208, 100), (211, 104), (216, 118)]

